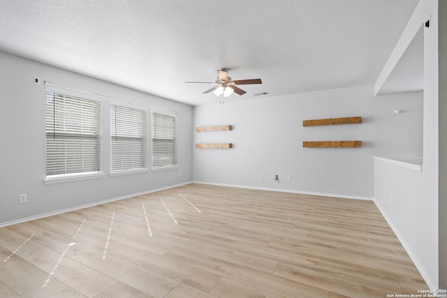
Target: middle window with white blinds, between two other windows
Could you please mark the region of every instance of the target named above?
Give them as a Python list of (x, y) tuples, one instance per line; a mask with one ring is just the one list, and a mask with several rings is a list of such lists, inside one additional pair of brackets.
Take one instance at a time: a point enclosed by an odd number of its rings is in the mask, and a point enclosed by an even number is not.
[(110, 107), (110, 167), (112, 172), (146, 167), (146, 111)]

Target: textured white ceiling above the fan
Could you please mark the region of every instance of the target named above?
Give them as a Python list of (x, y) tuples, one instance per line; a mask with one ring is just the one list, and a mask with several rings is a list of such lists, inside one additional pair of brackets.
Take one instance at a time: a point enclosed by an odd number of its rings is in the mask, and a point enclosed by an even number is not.
[[(0, 0), (0, 50), (191, 105), (373, 84), (418, 0)], [(57, 84), (57, 82), (54, 82)]]

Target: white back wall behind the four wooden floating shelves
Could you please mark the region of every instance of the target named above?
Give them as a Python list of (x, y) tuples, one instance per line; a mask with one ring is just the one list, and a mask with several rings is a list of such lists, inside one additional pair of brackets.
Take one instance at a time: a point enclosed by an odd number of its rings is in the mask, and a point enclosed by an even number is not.
[[(194, 126), (233, 125), (233, 131), (194, 133), (194, 142), (232, 142), (234, 148), (193, 149), (193, 179), (373, 198), (374, 155), (422, 154), (422, 98), (421, 92), (376, 97), (374, 85), (365, 85), (253, 100), (232, 96), (223, 105), (194, 107)], [(306, 119), (357, 116), (362, 124), (302, 126)], [(363, 147), (302, 147), (312, 140), (362, 140)]]

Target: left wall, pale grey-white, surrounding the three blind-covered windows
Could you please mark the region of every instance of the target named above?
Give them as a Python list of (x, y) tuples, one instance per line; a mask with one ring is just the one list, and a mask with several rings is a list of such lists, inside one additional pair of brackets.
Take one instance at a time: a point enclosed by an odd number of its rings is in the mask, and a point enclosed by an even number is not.
[[(0, 225), (29, 216), (70, 209), (102, 200), (144, 193), (184, 184), (192, 179), (192, 107), (150, 96), (115, 84), (94, 80), (35, 61), (0, 52)], [(178, 163), (176, 170), (110, 177), (110, 109), (103, 100), (103, 172), (100, 179), (44, 184), (45, 178), (45, 87), (34, 84), (40, 77), (73, 89), (182, 112), (177, 117)], [(147, 113), (150, 136), (150, 108)], [(150, 168), (150, 137), (147, 165)], [(178, 172), (182, 175), (179, 176)], [(19, 194), (27, 193), (27, 204)]]

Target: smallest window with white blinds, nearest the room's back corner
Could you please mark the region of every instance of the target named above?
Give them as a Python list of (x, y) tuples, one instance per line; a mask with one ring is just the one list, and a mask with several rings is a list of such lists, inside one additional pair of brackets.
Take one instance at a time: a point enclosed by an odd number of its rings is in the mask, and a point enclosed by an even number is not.
[(176, 117), (152, 112), (152, 168), (177, 165)]

